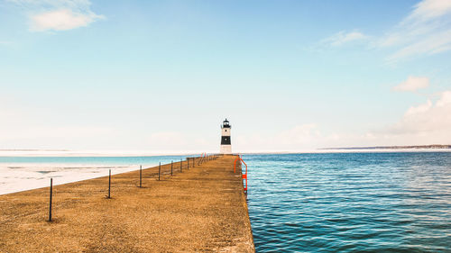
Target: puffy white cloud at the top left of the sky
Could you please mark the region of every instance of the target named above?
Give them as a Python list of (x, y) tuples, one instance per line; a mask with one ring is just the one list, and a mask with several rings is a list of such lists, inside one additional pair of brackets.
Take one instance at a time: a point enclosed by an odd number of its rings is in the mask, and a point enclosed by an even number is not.
[(29, 16), (30, 30), (34, 32), (65, 31), (86, 27), (103, 19), (95, 14), (88, 0), (9, 0)]

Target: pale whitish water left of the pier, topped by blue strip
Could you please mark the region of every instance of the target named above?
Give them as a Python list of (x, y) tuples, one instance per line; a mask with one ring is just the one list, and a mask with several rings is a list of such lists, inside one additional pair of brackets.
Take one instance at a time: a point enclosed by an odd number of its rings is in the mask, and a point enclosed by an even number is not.
[(0, 157), (0, 194), (113, 175), (180, 161), (186, 156), (152, 157)]

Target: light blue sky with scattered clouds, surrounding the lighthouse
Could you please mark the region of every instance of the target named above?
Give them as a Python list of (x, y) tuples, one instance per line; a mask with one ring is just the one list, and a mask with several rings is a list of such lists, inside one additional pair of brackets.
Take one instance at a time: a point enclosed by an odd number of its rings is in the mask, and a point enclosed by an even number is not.
[(451, 144), (451, 1), (0, 0), (0, 149)]

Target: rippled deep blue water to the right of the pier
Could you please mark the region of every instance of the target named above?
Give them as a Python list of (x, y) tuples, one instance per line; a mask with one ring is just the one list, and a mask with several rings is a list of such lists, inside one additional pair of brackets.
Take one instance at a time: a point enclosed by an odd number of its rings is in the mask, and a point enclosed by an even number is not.
[(257, 252), (451, 252), (451, 153), (243, 158)]

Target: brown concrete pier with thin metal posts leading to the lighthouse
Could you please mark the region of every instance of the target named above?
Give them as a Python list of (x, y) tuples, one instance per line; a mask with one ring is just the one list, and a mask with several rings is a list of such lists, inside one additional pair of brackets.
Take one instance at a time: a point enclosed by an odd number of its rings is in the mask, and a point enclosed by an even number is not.
[(0, 252), (254, 252), (235, 158), (0, 195)]

